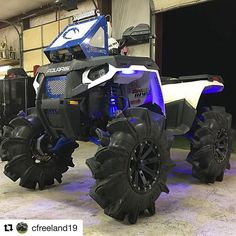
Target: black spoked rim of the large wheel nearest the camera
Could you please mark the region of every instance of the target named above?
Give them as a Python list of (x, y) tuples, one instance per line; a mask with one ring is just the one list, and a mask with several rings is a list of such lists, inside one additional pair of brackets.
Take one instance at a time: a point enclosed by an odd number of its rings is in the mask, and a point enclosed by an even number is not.
[(143, 141), (133, 149), (128, 176), (132, 188), (137, 192), (147, 192), (158, 180), (161, 168), (160, 153), (157, 145)]

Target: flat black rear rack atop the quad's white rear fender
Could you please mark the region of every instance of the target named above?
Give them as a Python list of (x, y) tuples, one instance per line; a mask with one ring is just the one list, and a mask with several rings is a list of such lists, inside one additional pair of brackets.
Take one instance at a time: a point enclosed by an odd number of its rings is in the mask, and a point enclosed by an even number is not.
[(208, 80), (208, 81), (215, 80), (221, 83), (223, 82), (222, 77), (218, 75), (207, 75), (207, 74), (190, 75), (190, 76), (180, 76), (178, 78), (161, 76), (162, 84), (176, 84), (176, 83), (192, 82), (192, 81), (198, 81), (198, 80)]

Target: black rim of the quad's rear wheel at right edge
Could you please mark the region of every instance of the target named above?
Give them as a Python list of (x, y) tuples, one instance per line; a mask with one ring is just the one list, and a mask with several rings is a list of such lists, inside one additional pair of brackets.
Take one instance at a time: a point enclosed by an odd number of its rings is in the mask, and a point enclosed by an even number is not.
[(228, 134), (225, 129), (218, 131), (214, 144), (214, 157), (217, 163), (225, 161), (228, 151)]

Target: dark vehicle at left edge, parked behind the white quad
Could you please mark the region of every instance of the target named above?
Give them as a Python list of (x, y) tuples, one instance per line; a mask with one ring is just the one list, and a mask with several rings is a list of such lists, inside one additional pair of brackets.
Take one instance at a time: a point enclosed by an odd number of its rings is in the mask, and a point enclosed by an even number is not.
[[(25, 115), (28, 107), (34, 106), (33, 81), (22, 68), (9, 69), (5, 78), (0, 80), (0, 142), (12, 131), (9, 122), (19, 113)], [(7, 155), (0, 152), (0, 158), (4, 161)]]

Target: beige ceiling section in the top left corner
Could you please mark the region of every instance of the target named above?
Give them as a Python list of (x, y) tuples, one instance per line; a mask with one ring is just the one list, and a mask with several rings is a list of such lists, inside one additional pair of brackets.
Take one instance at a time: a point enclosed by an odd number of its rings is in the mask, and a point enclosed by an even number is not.
[(24, 14), (30, 10), (53, 3), (55, 0), (5, 0), (1, 1), (0, 19), (6, 20)]

